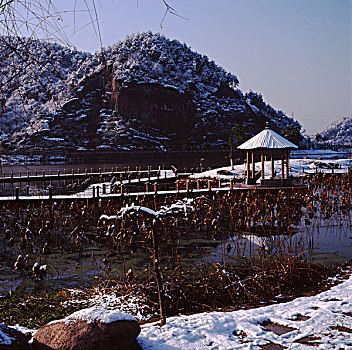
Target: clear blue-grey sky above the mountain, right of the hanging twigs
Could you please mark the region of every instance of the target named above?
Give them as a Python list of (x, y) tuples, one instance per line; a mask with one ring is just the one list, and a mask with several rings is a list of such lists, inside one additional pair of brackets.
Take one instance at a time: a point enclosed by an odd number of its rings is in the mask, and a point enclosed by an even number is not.
[[(73, 6), (72, 0), (56, 3)], [(308, 133), (352, 114), (351, 0), (169, 4), (187, 20), (168, 15), (161, 28), (162, 0), (96, 1), (103, 45), (147, 30), (185, 42), (237, 75), (241, 90), (260, 92), (274, 108), (293, 115)], [(76, 15), (77, 28), (88, 21), (87, 15)], [(65, 23), (72, 33), (70, 21)], [(91, 26), (73, 34), (71, 41), (80, 50), (100, 48)]]

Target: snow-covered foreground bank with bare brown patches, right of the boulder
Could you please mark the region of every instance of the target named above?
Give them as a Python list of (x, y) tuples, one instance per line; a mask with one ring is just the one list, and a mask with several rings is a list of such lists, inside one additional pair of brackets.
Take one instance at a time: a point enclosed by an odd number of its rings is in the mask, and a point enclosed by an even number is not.
[[(312, 349), (298, 341), (314, 337), (319, 349), (352, 349), (352, 276), (313, 297), (257, 309), (171, 317), (165, 326), (145, 324), (138, 337), (144, 350), (261, 349), (274, 343), (288, 349)], [(297, 316), (307, 320), (294, 321)], [(272, 321), (294, 330), (277, 335), (260, 325)], [(337, 329), (338, 328), (338, 329)]]

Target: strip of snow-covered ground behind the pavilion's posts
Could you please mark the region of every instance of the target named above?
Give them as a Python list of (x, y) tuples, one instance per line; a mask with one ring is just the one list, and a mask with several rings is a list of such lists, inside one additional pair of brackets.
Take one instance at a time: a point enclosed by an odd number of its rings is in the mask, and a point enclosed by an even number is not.
[[(290, 159), (289, 161), (291, 176), (301, 176), (305, 173), (347, 173), (352, 167), (352, 158), (347, 159)], [(281, 177), (281, 160), (274, 162), (275, 172), (277, 177)], [(261, 163), (255, 163), (256, 171), (260, 171)], [(231, 179), (244, 178), (246, 176), (246, 164), (235, 165), (233, 169), (230, 166), (204, 171), (202, 173), (193, 174), (193, 178), (215, 178), (215, 179)], [(286, 165), (285, 165), (286, 169)], [(285, 170), (286, 171), (286, 170)], [(265, 177), (271, 176), (271, 162), (264, 162)], [(258, 180), (259, 181), (259, 180)]]

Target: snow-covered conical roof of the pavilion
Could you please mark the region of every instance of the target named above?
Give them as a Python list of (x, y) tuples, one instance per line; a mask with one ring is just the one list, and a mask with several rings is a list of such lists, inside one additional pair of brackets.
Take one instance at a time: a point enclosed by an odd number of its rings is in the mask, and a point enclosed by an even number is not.
[(259, 134), (253, 136), (251, 139), (238, 146), (239, 149), (255, 149), (255, 148), (268, 148), (268, 149), (288, 149), (298, 148), (294, 143), (286, 140), (275, 131), (266, 127)]

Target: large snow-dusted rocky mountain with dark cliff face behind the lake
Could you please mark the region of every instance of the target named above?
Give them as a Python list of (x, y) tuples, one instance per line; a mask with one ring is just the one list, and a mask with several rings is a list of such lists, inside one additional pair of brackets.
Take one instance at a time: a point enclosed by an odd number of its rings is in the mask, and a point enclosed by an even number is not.
[(95, 55), (57, 44), (0, 38), (1, 140), (13, 148), (166, 150), (227, 148), (269, 119), (301, 128), (243, 94), (239, 81), (186, 44), (151, 32)]

